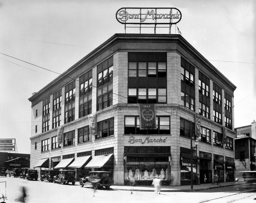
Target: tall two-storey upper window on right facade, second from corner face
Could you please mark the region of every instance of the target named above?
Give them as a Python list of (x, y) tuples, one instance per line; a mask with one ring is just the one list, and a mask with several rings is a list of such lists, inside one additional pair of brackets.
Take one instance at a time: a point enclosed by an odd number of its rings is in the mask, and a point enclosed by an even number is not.
[(199, 114), (204, 117), (210, 118), (210, 79), (199, 71)]

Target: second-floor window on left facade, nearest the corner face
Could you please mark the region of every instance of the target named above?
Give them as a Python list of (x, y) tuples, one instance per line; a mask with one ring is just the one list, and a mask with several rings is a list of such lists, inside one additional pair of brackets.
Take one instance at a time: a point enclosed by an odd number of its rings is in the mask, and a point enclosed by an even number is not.
[(114, 117), (100, 121), (97, 124), (98, 134), (96, 135), (96, 139), (114, 135)]

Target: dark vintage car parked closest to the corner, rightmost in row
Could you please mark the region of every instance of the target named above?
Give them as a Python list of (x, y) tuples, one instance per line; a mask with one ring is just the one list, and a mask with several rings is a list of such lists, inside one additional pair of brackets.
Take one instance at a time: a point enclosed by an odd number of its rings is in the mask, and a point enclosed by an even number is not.
[(94, 189), (103, 188), (109, 189), (111, 186), (110, 183), (109, 171), (90, 171), (89, 176), (81, 178), (79, 184), (81, 187), (84, 185), (91, 185)]

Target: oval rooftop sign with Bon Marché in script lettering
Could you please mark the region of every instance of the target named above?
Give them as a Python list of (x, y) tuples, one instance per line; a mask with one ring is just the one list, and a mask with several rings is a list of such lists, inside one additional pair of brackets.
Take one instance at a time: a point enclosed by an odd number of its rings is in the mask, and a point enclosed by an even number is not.
[(176, 8), (121, 8), (116, 19), (122, 24), (176, 24), (181, 20), (181, 12)]

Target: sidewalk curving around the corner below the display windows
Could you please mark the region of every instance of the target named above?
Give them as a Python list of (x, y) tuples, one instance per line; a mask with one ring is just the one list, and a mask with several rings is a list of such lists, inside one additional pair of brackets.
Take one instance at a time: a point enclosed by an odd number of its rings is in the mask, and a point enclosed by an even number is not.
[[(219, 183), (219, 185), (215, 185), (212, 183), (207, 184), (200, 184), (200, 185), (193, 185), (193, 189), (191, 189), (191, 185), (181, 185), (181, 186), (174, 186), (169, 187), (169, 185), (162, 185), (161, 192), (188, 192), (188, 191), (199, 191), (199, 190), (207, 190), (216, 187), (226, 187), (231, 185), (241, 184), (240, 182), (226, 182), (226, 183)], [(113, 190), (131, 190), (133, 191), (148, 191), (154, 192), (154, 187), (151, 185), (139, 185), (134, 186), (133, 188), (129, 185), (112, 185), (110, 186)]]

